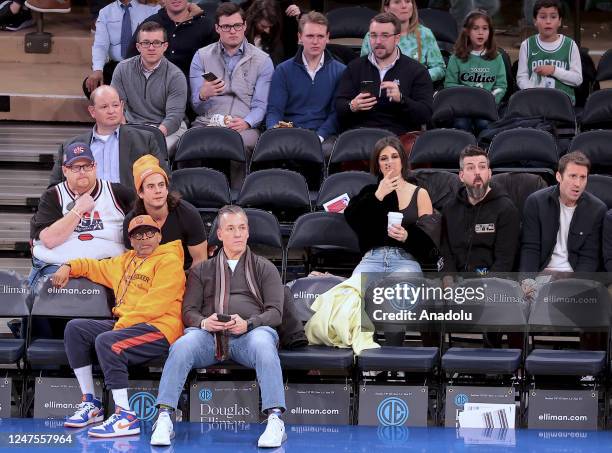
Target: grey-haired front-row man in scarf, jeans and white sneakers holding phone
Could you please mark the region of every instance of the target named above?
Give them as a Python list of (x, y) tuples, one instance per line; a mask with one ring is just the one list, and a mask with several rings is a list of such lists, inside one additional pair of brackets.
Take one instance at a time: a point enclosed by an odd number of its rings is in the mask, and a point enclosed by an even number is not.
[(217, 236), (223, 244), (219, 254), (189, 273), (183, 301), (186, 329), (164, 366), (151, 445), (170, 445), (170, 413), (189, 371), (232, 359), (257, 372), (262, 411), (268, 415), (258, 447), (280, 447), (286, 439), (280, 419), (285, 392), (275, 327), (283, 314), (283, 285), (276, 267), (247, 246), (249, 224), (242, 208), (219, 210)]

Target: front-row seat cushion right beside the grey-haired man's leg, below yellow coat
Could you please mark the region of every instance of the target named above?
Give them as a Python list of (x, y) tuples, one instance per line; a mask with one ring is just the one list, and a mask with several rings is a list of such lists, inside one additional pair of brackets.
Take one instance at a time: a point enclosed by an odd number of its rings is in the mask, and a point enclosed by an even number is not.
[(353, 365), (353, 350), (329, 346), (306, 346), (278, 352), (284, 370), (348, 370)]

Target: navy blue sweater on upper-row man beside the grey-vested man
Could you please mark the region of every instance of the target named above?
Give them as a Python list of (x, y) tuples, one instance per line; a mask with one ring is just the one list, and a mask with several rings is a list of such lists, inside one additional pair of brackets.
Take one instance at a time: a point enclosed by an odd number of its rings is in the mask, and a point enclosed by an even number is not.
[(276, 67), (270, 84), (266, 128), (279, 121), (314, 130), (327, 138), (338, 131), (335, 96), (345, 66), (326, 50), (323, 67), (314, 81), (302, 61), (300, 48), (294, 58)]

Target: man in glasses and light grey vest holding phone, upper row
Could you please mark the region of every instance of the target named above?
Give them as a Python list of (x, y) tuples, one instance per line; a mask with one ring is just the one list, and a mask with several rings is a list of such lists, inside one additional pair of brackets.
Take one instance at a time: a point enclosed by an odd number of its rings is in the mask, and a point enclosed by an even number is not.
[[(198, 50), (189, 70), (191, 103), (198, 115), (194, 126), (235, 130), (250, 157), (266, 114), (274, 66), (265, 52), (245, 39), (245, 14), (239, 6), (221, 3), (215, 17), (219, 42)], [(234, 187), (242, 177), (238, 169), (232, 172)]]

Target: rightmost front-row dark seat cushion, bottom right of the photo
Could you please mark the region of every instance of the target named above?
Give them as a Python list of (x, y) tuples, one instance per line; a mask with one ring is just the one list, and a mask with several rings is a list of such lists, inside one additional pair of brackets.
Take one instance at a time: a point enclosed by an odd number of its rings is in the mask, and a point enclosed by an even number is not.
[(525, 362), (532, 375), (596, 376), (605, 366), (605, 351), (534, 349)]

